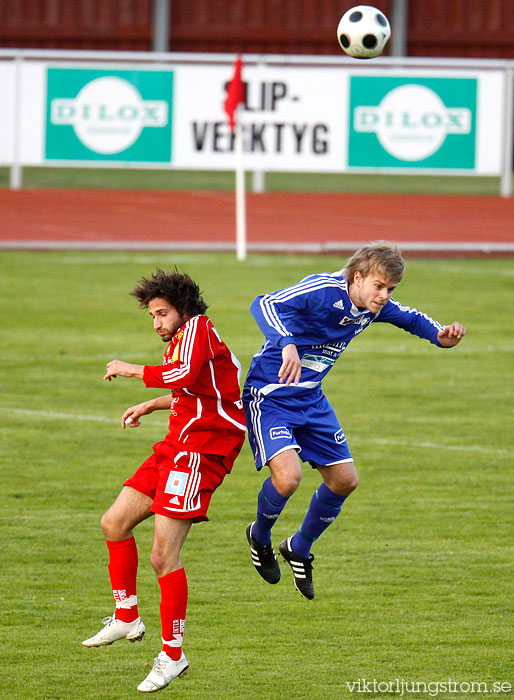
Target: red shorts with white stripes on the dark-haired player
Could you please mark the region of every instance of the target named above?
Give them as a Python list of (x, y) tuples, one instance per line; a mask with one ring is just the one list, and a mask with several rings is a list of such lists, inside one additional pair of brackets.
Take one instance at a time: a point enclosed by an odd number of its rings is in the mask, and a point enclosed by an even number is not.
[(158, 442), (154, 454), (124, 486), (152, 498), (152, 513), (198, 523), (209, 520), (207, 509), (212, 494), (230, 472), (232, 463), (227, 464), (227, 458), (221, 455), (186, 452)]

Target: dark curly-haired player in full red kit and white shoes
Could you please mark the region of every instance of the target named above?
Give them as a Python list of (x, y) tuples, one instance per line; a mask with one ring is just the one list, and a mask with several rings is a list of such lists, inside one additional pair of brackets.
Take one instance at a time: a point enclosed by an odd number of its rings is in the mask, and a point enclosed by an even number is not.
[(162, 650), (138, 690), (154, 692), (183, 676), (188, 662), (182, 651), (187, 607), (187, 579), (180, 550), (192, 523), (208, 520), (213, 492), (239, 454), (245, 419), (239, 391), (240, 365), (221, 340), (195, 282), (177, 271), (158, 270), (131, 292), (153, 318), (155, 331), (168, 343), (162, 365), (107, 364), (104, 379), (137, 377), (147, 387), (170, 394), (128, 408), (122, 427), (138, 427), (155, 410), (170, 411), (169, 432), (153, 454), (125, 481), (102, 518), (109, 550), (109, 575), (116, 610), (104, 628), (84, 646), (142, 639), (137, 608), (137, 547), (133, 528), (155, 515), (151, 562), (161, 588)]

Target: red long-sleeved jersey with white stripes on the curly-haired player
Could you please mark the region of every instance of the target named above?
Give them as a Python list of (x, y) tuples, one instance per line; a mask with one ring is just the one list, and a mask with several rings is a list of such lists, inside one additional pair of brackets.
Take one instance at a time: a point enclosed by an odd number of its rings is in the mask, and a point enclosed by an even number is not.
[(243, 439), (241, 365), (207, 316), (193, 316), (173, 336), (162, 365), (145, 365), (147, 387), (171, 389), (165, 442), (188, 452), (228, 456)]

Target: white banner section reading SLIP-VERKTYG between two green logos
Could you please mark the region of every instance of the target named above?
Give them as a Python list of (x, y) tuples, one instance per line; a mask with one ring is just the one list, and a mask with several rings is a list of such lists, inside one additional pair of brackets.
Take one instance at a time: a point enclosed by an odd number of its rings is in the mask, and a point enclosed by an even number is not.
[[(176, 72), (176, 166), (234, 167), (234, 139), (223, 111), (231, 70)], [(247, 66), (240, 108), (247, 169), (340, 171), (346, 162), (348, 73), (320, 68)]]

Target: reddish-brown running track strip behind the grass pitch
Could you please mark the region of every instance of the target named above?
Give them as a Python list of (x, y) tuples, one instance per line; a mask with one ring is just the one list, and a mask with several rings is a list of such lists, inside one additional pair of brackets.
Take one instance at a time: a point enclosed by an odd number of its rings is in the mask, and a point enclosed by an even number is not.
[[(405, 252), (514, 255), (514, 197), (247, 195), (249, 251), (348, 252), (387, 239)], [(0, 190), (0, 248), (233, 250), (229, 192)]]

